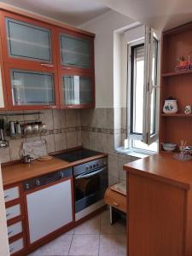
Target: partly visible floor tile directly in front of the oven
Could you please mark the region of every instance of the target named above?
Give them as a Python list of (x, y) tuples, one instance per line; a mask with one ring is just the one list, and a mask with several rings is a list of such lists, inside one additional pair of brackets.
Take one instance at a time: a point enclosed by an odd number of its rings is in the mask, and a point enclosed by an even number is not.
[(74, 234), (97, 235), (100, 233), (100, 218), (91, 218), (74, 230)]

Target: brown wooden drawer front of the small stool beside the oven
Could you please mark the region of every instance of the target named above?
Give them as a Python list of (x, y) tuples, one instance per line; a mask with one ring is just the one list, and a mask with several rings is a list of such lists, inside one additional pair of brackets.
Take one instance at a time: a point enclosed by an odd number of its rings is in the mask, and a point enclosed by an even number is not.
[(126, 212), (126, 196), (108, 189), (105, 194), (105, 202), (122, 212)]

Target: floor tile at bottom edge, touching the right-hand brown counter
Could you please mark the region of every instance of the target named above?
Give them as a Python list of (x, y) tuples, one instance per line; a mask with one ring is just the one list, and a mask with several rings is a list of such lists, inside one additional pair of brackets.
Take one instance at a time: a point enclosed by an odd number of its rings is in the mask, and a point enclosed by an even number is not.
[(99, 251), (98, 235), (73, 235), (69, 255), (97, 256)]

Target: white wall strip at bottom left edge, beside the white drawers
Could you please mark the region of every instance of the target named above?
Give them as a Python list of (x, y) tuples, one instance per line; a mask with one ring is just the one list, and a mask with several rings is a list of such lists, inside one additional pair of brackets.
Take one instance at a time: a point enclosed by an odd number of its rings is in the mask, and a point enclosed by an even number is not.
[(2, 171), (0, 165), (0, 255), (9, 256), (8, 230), (5, 217)]

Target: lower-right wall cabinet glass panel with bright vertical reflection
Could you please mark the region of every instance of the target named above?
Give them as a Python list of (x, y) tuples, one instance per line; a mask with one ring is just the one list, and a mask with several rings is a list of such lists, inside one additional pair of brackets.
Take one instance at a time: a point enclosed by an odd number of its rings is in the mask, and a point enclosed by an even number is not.
[(64, 75), (62, 83), (65, 105), (80, 105), (92, 102), (90, 78), (80, 77), (78, 75)]

